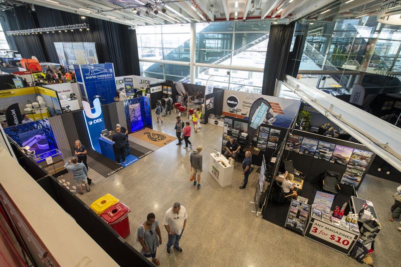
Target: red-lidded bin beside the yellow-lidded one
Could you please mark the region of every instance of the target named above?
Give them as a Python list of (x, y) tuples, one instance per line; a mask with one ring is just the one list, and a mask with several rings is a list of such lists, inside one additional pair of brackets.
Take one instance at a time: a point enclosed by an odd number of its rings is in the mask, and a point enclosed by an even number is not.
[(129, 207), (121, 202), (110, 206), (100, 216), (113, 228), (122, 238), (129, 235), (128, 213)]

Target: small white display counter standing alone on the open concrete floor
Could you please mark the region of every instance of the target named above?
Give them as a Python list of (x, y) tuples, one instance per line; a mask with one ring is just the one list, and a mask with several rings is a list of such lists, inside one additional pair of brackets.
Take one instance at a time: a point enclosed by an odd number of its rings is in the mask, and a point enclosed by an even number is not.
[[(221, 161), (221, 162), (220, 162)], [(224, 162), (226, 166), (222, 164)], [(209, 173), (215, 178), (221, 187), (231, 185), (233, 182), (234, 166), (223, 155), (215, 157), (215, 153), (209, 155)]]

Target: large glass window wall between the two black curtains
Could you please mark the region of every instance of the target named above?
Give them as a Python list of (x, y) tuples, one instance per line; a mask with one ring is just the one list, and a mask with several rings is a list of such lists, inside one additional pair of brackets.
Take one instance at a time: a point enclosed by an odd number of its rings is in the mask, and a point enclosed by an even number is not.
[[(269, 41), (270, 22), (219, 22), (196, 24), (195, 62), (263, 68)], [(136, 30), (141, 58), (189, 62), (189, 25), (145, 26)], [(222, 88), (261, 92), (263, 73), (196, 67), (196, 83), (209, 81)], [(187, 81), (189, 67), (143, 62), (148, 77)]]

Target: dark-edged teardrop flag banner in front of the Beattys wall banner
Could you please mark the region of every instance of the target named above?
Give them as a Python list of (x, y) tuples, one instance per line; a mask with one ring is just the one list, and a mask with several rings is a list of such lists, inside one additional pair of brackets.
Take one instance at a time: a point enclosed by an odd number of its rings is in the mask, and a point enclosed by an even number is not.
[(272, 107), (264, 98), (258, 98), (252, 104), (248, 120), (248, 143), (252, 141), (255, 133), (262, 123), (270, 124), (274, 120)]

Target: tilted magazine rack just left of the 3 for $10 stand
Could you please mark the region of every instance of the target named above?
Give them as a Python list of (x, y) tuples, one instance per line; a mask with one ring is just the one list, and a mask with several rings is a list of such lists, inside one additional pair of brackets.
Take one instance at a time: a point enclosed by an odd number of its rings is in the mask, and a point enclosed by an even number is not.
[(285, 227), (303, 234), (308, 220), (310, 205), (301, 203), (295, 199), (291, 201), (288, 210)]

